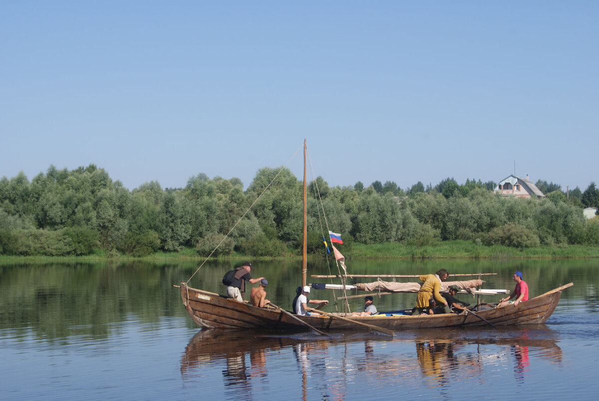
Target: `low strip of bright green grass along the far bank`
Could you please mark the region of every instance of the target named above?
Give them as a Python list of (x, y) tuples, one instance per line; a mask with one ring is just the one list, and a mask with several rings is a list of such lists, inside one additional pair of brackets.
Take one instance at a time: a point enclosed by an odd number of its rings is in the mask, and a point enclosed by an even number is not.
[[(372, 244), (364, 245), (353, 243), (347, 247), (339, 245), (338, 250), (347, 259), (505, 259), (505, 258), (595, 258), (599, 257), (598, 247), (583, 247), (581, 245), (562, 245), (556, 247), (539, 247), (519, 250), (516, 248), (494, 245), (476, 245), (471, 241), (444, 241), (434, 246), (415, 247), (404, 244)], [(331, 254), (332, 256), (332, 254)], [(308, 258), (319, 258), (324, 255), (308, 255)], [(33, 262), (52, 260), (80, 262), (94, 260), (204, 260), (195, 250), (185, 248), (179, 252), (157, 252), (144, 257), (110, 254), (98, 250), (87, 256), (0, 256), (1, 262)], [(252, 255), (232, 254), (220, 259), (273, 259), (270, 257), (255, 257)], [(277, 258), (275, 258), (277, 259)], [(288, 256), (285, 259), (301, 259), (301, 256)]]

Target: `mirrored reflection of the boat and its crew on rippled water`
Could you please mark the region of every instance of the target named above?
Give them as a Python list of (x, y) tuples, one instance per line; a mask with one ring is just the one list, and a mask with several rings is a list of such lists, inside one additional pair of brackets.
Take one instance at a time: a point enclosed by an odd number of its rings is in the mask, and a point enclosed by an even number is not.
[[(389, 387), (443, 387), (459, 378), (480, 378), (485, 369), (498, 364), (511, 366), (516, 381), (522, 381), (541, 361), (562, 362), (557, 334), (544, 325), (406, 331), (394, 338), (364, 332), (324, 338), (310, 333), (280, 336), (200, 330), (183, 352), (181, 376), (193, 382), (205, 370), (218, 368), (225, 387), (244, 393), (255, 391), (261, 381), (295, 378), (303, 399), (313, 398), (308, 397), (310, 391), (345, 399), (345, 389), (356, 382), (365, 387), (382, 381)], [(279, 368), (283, 365), (284, 372)]]

